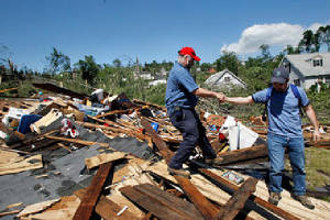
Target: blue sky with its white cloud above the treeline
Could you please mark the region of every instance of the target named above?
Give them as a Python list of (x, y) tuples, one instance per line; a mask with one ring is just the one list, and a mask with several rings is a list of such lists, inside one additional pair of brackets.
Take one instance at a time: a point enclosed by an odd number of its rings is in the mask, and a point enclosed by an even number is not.
[(43, 70), (53, 47), (72, 64), (173, 62), (183, 46), (206, 63), (223, 50), (254, 56), (263, 43), (276, 54), (329, 24), (329, 0), (0, 0), (0, 58)]

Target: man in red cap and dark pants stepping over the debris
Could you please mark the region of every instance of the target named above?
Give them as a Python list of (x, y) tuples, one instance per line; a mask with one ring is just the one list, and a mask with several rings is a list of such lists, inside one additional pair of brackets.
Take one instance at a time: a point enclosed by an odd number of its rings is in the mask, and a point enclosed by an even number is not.
[(195, 111), (197, 97), (212, 97), (223, 99), (222, 94), (199, 88), (189, 70), (195, 61), (200, 61), (194, 48), (183, 47), (178, 52), (178, 61), (174, 64), (167, 79), (165, 105), (173, 125), (183, 133), (183, 142), (168, 164), (172, 175), (188, 177), (190, 173), (183, 169), (183, 163), (191, 155), (195, 146), (199, 144), (206, 163), (211, 164), (217, 157), (211, 147), (206, 130)]

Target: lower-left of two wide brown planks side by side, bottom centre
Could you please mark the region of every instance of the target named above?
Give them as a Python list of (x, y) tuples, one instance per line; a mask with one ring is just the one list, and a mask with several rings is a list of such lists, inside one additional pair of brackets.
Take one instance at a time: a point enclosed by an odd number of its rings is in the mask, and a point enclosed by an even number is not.
[[(186, 217), (173, 211), (163, 204), (157, 202), (154, 198), (151, 198), (139, 190), (134, 189), (132, 186), (125, 186), (120, 188), (120, 191), (132, 201), (143, 207), (145, 210), (152, 212), (154, 216), (161, 219), (175, 219), (185, 220)], [(189, 218), (191, 219), (191, 218)], [(193, 220), (193, 219), (191, 219)]]

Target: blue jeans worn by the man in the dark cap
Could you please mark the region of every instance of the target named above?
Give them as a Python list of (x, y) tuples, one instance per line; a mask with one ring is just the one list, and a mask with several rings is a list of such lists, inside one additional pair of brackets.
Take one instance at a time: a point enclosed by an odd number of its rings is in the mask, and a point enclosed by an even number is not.
[(271, 160), (270, 191), (280, 193), (282, 172), (284, 169), (285, 147), (288, 154), (294, 176), (294, 190), (297, 196), (306, 194), (305, 144), (304, 138), (289, 138), (268, 133), (268, 155)]

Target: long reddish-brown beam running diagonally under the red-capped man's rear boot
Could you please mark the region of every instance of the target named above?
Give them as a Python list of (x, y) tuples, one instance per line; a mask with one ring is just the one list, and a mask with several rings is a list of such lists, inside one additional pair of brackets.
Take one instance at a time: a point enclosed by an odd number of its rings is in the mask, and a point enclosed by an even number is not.
[[(165, 142), (157, 135), (156, 131), (151, 127), (147, 120), (142, 118), (141, 124), (152, 136), (153, 142), (156, 144), (162, 156), (168, 164), (170, 157), (174, 155), (173, 152), (167, 148)], [(216, 217), (218, 209), (206, 197), (202, 196), (202, 194), (191, 184), (189, 179), (177, 175), (174, 175), (174, 178), (180, 185), (180, 187), (196, 206), (196, 208), (201, 212), (205, 219), (212, 219), (213, 217)]]

